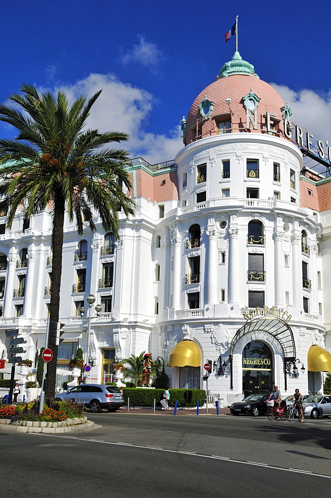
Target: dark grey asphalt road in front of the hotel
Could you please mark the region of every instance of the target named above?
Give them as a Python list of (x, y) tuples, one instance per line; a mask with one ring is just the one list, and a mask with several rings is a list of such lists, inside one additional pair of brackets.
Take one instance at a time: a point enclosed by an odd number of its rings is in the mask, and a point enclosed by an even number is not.
[(2, 495), (16, 497), (329, 496), (329, 419), (88, 414), (67, 435), (0, 428)]

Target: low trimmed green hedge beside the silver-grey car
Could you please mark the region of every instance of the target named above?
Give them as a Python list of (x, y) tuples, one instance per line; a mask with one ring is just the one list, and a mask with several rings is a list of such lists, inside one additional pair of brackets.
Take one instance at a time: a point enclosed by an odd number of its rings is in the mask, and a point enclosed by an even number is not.
[[(125, 387), (123, 389), (124, 403), (131, 406), (153, 406), (154, 398), (156, 404), (159, 404), (164, 393), (164, 389), (136, 389)], [(203, 389), (169, 389), (169, 405), (174, 406), (177, 400), (177, 406), (196, 406), (199, 401), (200, 406), (206, 402), (206, 391)]]

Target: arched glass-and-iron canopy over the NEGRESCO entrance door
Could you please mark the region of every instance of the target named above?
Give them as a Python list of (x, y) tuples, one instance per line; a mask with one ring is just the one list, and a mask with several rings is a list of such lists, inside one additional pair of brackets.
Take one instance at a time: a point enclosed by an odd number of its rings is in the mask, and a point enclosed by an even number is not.
[(279, 318), (262, 318), (258, 316), (248, 320), (245, 325), (237, 330), (229, 347), (229, 356), (232, 357), (233, 348), (243, 335), (248, 334), (249, 332), (254, 333), (254, 331), (257, 332), (258, 330), (268, 332), (279, 341), (283, 348), (285, 358), (296, 357), (293, 333), (289, 325)]

